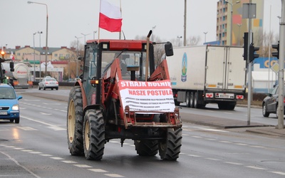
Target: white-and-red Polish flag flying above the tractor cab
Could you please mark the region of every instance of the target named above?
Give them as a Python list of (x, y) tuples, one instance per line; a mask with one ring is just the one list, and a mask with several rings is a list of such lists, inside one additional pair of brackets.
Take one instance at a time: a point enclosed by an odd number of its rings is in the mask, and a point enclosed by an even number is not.
[(101, 0), (99, 27), (110, 32), (120, 32), (122, 27), (120, 8), (110, 4), (107, 0)]

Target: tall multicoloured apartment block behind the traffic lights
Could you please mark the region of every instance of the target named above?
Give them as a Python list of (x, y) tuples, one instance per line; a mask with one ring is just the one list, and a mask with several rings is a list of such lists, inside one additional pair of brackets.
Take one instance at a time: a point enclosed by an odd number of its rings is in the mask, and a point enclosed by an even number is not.
[[(220, 45), (243, 46), (244, 32), (249, 30), (249, 19), (242, 18), (243, 4), (249, 4), (249, 0), (217, 1), (216, 38)], [(257, 7), (256, 18), (252, 19), (252, 32), (254, 44), (259, 46), (263, 34), (264, 0), (252, 0), (252, 4)]]

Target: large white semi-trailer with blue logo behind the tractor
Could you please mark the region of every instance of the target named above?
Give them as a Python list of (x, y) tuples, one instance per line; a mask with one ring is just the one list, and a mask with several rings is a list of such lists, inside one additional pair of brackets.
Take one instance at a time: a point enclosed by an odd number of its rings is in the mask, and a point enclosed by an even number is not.
[(175, 105), (204, 108), (217, 103), (219, 109), (234, 110), (246, 91), (246, 61), (242, 47), (185, 46), (167, 57)]

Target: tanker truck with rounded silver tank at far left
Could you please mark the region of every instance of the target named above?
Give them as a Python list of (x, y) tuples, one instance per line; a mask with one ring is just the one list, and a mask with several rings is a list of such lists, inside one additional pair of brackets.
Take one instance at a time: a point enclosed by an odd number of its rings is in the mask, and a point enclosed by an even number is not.
[(14, 71), (10, 71), (9, 63), (2, 63), (2, 65), (6, 71), (4, 75), (9, 78), (14, 88), (28, 88), (33, 85), (31, 70), (25, 63), (14, 63)]

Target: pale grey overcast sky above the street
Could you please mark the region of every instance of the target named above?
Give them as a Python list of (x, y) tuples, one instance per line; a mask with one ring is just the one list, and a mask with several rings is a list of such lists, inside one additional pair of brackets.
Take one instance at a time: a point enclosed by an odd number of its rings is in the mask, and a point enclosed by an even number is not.
[[(46, 6), (27, 4), (28, 0), (0, 0), (0, 46), (33, 46), (33, 33), (43, 31), (41, 46), (46, 44)], [(33, 1), (33, 0), (30, 0)], [(100, 0), (34, 0), (48, 4), (48, 46), (68, 46), (72, 41), (83, 43), (98, 38), (98, 15)], [(119, 6), (118, 0), (108, 0)], [(187, 0), (187, 38), (200, 36), (204, 42), (215, 41), (218, 0)], [(156, 26), (153, 34), (162, 40), (171, 40), (183, 36), (183, 0), (121, 0), (123, 11), (122, 30), (127, 39), (135, 36), (146, 36)], [(270, 14), (271, 6), (271, 14)], [(264, 31), (279, 33), (281, 16), (281, 0), (264, 0)], [(100, 29), (100, 38), (118, 38), (118, 33), (110, 33)], [(35, 46), (39, 46), (39, 35), (35, 36)]]

